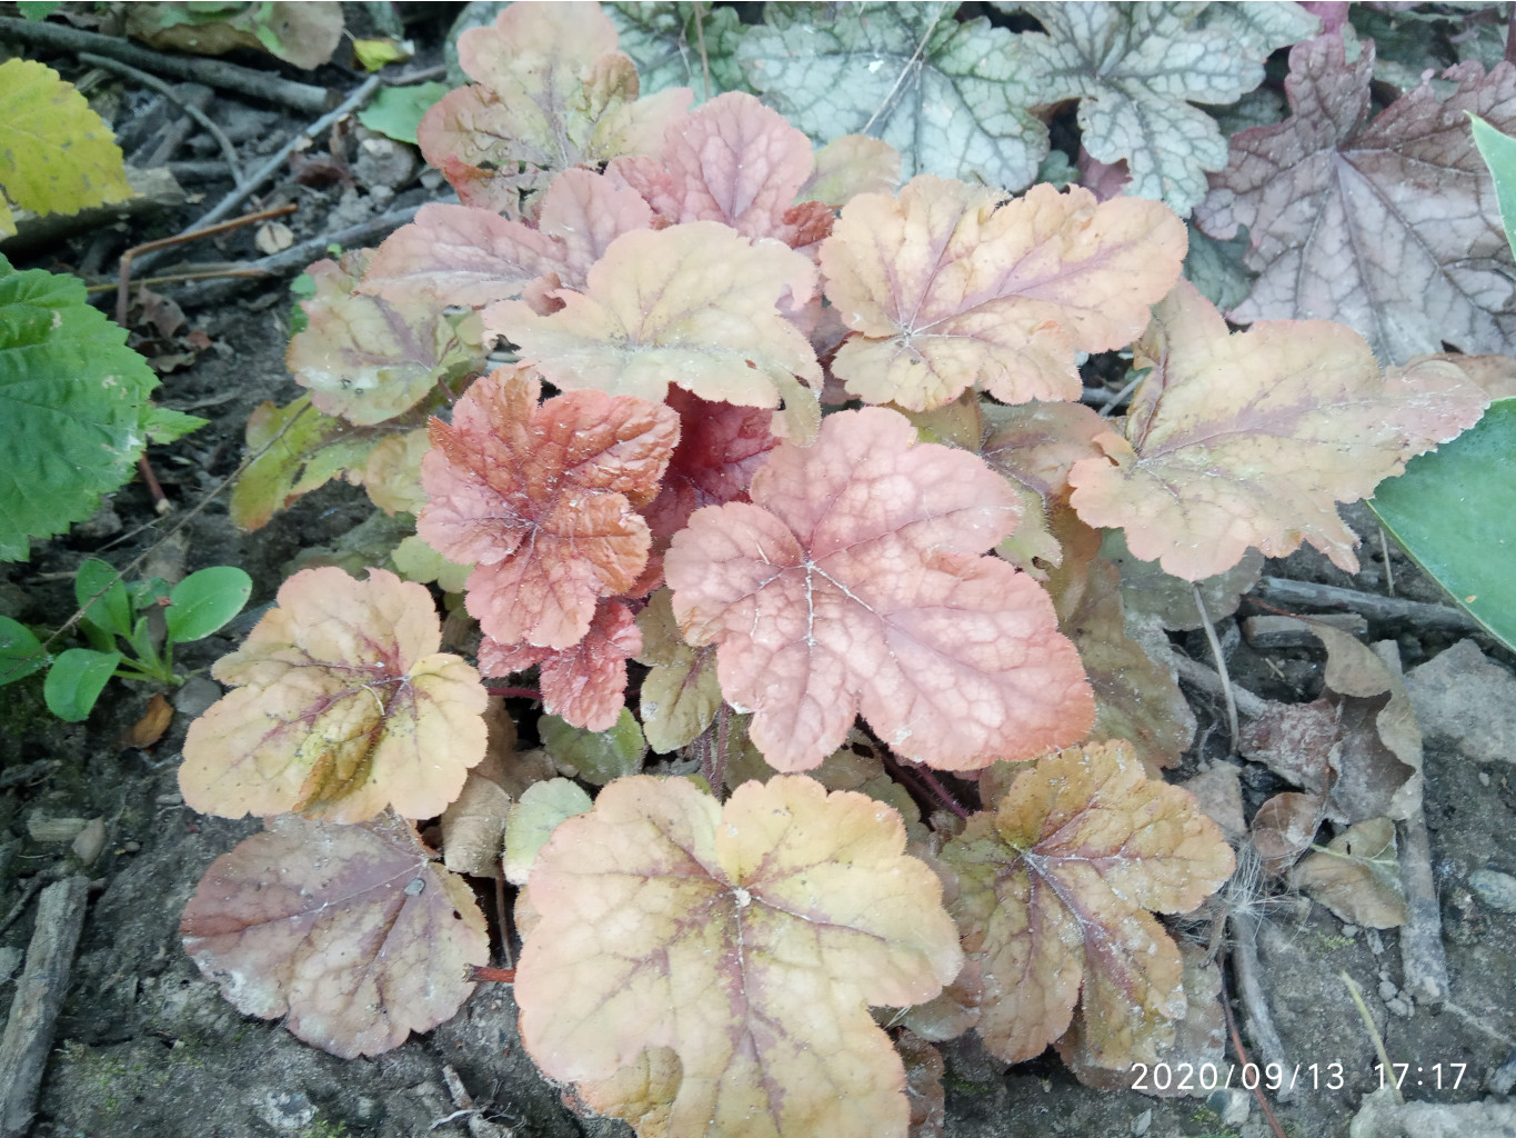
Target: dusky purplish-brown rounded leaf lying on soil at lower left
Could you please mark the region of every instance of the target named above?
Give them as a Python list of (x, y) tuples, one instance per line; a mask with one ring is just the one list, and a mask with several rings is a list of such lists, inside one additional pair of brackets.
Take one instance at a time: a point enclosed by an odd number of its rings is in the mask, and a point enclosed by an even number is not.
[(473, 892), (394, 818), (274, 818), (211, 863), (180, 933), (238, 1011), (344, 1059), (450, 1018), (490, 960)]

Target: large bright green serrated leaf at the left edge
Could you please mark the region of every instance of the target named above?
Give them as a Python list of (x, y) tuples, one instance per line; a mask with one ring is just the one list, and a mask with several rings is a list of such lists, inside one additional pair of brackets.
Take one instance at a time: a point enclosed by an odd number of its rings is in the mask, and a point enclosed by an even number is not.
[(83, 520), (130, 478), (156, 385), (80, 281), (0, 256), (0, 560), (26, 558), (29, 539)]

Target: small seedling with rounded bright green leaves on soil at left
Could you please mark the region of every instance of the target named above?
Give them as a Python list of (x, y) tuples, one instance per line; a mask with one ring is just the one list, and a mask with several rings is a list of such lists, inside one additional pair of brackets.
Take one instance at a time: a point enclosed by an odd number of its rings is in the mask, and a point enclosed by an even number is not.
[(79, 628), (91, 646), (55, 657), (26, 625), (0, 618), (0, 684), (47, 668), (47, 709), (80, 722), (112, 677), (183, 683), (174, 672), (174, 645), (220, 630), (243, 610), (252, 589), (246, 572), (226, 564), (190, 574), (170, 589), (156, 577), (127, 586), (105, 561), (88, 560), (79, 566), (74, 596), (83, 610)]

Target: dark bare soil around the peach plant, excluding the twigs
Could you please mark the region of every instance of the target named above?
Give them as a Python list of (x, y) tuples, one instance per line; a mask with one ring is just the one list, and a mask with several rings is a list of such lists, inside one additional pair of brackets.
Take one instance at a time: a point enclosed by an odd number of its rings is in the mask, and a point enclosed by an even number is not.
[[(297, 126), (287, 121), (283, 127)], [(347, 194), (349, 212), (362, 212), (362, 187)], [(341, 187), (293, 191), (302, 197), (305, 231), (332, 222)], [(368, 205), (370, 211), (376, 206)], [(158, 234), (152, 234), (158, 235)], [(300, 232), (305, 235), (305, 232)], [(141, 240), (139, 237), (136, 240)], [(246, 241), (229, 244), (240, 255)], [(61, 259), (67, 259), (61, 253)], [(29, 264), (47, 267), (47, 256)], [(264, 399), (288, 402), (299, 393), (283, 367), (288, 294), (282, 284), (262, 287), (217, 308), (190, 308), (191, 326), (215, 347), (185, 370), (165, 376), (159, 401), (199, 408), (209, 428), (171, 448), (155, 448), (153, 464), (170, 496), (186, 508), (230, 472), (241, 454), (249, 413)], [(302, 551), (352, 531), (371, 513), (361, 492), (335, 486), (303, 499), (255, 534), (238, 533), (220, 501), (155, 554), (152, 572), (173, 578), (209, 564), (240, 564), (253, 574), (249, 613), (223, 636), (194, 645), (182, 662), (205, 669), (230, 651), (273, 599)], [(0, 611), (36, 622), (58, 622), (73, 608), (71, 575), (79, 561), (114, 537), (152, 519), (146, 492), (133, 484), (114, 496), (91, 523), (71, 536), (38, 543), (30, 564), (0, 566)], [(1367, 513), (1354, 513), (1361, 533), (1372, 533)], [(173, 520), (173, 519), (170, 519)], [(139, 534), (109, 549), (124, 563), (153, 540)], [(1383, 592), (1383, 561), (1364, 548), (1364, 572), (1346, 578), (1322, 558), (1299, 554), (1270, 563), (1275, 575), (1346, 584)], [(1434, 586), (1398, 552), (1398, 593), (1440, 599)], [(1245, 610), (1246, 611), (1246, 610)], [(1223, 630), (1225, 631), (1225, 630)], [(1414, 628), (1375, 625), (1375, 637), (1398, 637), (1407, 668), (1445, 651), (1454, 637)], [(1486, 654), (1510, 677), (1511, 657), (1489, 642)], [(1204, 648), (1192, 645), (1204, 659)], [(1270, 668), (1246, 646), (1233, 659), (1245, 686), (1272, 696), (1311, 698), (1320, 684), (1320, 657), (1295, 652)], [(1281, 686), (1283, 671), (1292, 681)], [(1511, 678), (1516, 683), (1516, 678)], [(267, 1138), (300, 1135), (415, 1136), (506, 1135), (518, 1138), (628, 1135), (619, 1123), (576, 1118), (555, 1088), (544, 1083), (523, 1053), (515, 1032), (509, 988), (484, 985), (449, 1024), (377, 1059), (341, 1061), (312, 1050), (277, 1023), (241, 1017), (215, 985), (200, 977), (179, 944), (179, 913), (200, 874), (218, 854), (258, 828), (252, 819), (202, 818), (179, 800), (179, 748), (193, 715), (215, 698), (214, 684), (193, 683), (176, 696), (180, 713), (150, 751), (120, 743), (149, 692), (114, 684), (85, 724), (53, 721), (41, 699), (41, 678), (0, 695), (0, 915), (27, 894), (38, 874), (68, 863), (67, 842), (36, 841), (35, 818), (103, 818), (106, 844), (83, 871), (96, 883), (70, 977), (68, 995), (47, 1068), (36, 1138)], [(1433, 1111), (1413, 1121), (1375, 1123), (1370, 1112), (1351, 1130), (1355, 1138), (1458, 1133), (1461, 1138), (1516, 1135), (1516, 1108), (1489, 1082), (1510, 1089), (1501, 1067), (1516, 1048), (1516, 912), (1502, 910), (1471, 889), (1480, 869), (1516, 874), (1516, 736), (1499, 745), (1469, 731), (1502, 722), (1510, 706), (1487, 701), (1495, 689), (1471, 686), (1452, 712), (1467, 722), (1428, 742), (1427, 824), (1442, 904), (1443, 944), (1451, 1000), (1439, 1011), (1401, 997), (1396, 933), (1345, 929), (1320, 906), (1261, 912), (1257, 951), (1264, 995), (1284, 1050), (1302, 1070), (1316, 1064), (1320, 1089), (1293, 1100), (1270, 1096), (1286, 1133), (1295, 1138), (1348, 1135), (1354, 1115), (1378, 1085), (1373, 1042), (1339, 977), (1346, 971), (1364, 994), (1392, 1061), (1411, 1064), (1404, 1086), (1408, 1100), (1437, 1108), (1484, 1102), (1474, 1114)], [(1202, 728), (1217, 721), (1217, 707), (1196, 698)], [(1492, 736), (1490, 731), (1484, 731)], [(1225, 728), (1214, 731), (1210, 759), (1225, 750)], [(1460, 743), (1460, 739), (1463, 740)], [(1178, 778), (1198, 768), (1192, 756)], [(1280, 783), (1263, 768), (1243, 778), (1249, 812)], [(1516, 909), (1516, 903), (1513, 903)], [(0, 1008), (15, 992), (23, 954), (32, 936), (35, 903), (0, 933)], [(1231, 986), (1231, 980), (1228, 985)], [(1392, 1011), (1392, 1008), (1395, 1011)], [(952, 1138), (1038, 1138), (1045, 1135), (1242, 1135), (1270, 1130), (1251, 1096), (1155, 1099), (1132, 1091), (1107, 1092), (1079, 1085), (1049, 1056), (1002, 1073), (972, 1042), (944, 1045), (948, 1056), (948, 1124)], [(1326, 1089), (1326, 1070), (1340, 1064), (1342, 1089)], [(1466, 1064), (1457, 1089), (1416, 1086), (1414, 1068)], [(447, 1120), (459, 1109), (447, 1085), (456, 1071), (478, 1114)], [(1236, 1086), (1236, 1079), (1234, 1079)], [(1471, 1108), (1474, 1109), (1474, 1108)], [(431, 1129), (434, 1127), (435, 1129)], [(1439, 1129), (1448, 1127), (1448, 1129)]]

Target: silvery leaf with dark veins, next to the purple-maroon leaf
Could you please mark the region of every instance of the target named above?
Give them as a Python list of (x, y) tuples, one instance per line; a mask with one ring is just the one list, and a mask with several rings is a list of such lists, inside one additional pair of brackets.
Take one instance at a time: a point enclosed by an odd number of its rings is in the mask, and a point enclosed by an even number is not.
[[(1295, 5), (1213, 5), (1208, 26), (1186, 3), (1017, 5), (1048, 30), (1016, 38), (1014, 71), (1040, 105), (1079, 100), (1084, 149), (1125, 161), (1126, 193), (1181, 217), (1226, 165), (1226, 137), (1192, 103), (1231, 103), (1263, 82), (1269, 52), (1319, 23)], [(1216, 9), (1245, 9), (1234, 15)], [(1272, 18), (1263, 11), (1281, 9)]]

